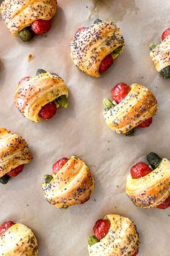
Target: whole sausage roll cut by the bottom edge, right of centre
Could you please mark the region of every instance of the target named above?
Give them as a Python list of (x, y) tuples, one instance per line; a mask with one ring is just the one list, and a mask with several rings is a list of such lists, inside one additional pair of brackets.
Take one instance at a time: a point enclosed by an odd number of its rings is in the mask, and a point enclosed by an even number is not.
[(140, 239), (129, 218), (109, 214), (95, 224), (87, 239), (90, 256), (136, 256)]

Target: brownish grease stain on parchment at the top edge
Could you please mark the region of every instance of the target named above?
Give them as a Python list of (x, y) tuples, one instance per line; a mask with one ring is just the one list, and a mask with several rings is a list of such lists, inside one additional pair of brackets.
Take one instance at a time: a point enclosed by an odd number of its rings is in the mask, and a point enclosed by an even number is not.
[(99, 17), (104, 20), (111, 19), (114, 22), (120, 22), (127, 13), (135, 12), (137, 14), (138, 10), (135, 0), (93, 0), (89, 20)]

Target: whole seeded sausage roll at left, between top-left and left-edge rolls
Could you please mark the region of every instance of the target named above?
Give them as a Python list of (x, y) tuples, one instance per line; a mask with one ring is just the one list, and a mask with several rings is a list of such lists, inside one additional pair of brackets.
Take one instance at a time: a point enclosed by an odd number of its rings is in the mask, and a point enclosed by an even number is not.
[(52, 118), (59, 106), (67, 108), (68, 89), (58, 74), (37, 69), (34, 77), (24, 77), (14, 94), (14, 103), (23, 116), (36, 123)]

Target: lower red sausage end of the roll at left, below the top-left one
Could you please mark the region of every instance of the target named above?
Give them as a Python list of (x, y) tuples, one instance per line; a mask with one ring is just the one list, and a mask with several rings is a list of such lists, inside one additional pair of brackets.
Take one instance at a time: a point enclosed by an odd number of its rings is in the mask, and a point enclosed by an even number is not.
[(57, 107), (54, 102), (50, 102), (45, 106), (42, 106), (38, 116), (42, 117), (43, 119), (50, 119), (52, 118), (57, 111)]

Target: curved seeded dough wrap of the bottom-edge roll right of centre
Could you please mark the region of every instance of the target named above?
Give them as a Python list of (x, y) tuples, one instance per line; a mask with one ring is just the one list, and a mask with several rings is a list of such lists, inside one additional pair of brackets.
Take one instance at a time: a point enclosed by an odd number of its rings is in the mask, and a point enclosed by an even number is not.
[(89, 245), (90, 256), (132, 256), (138, 251), (140, 239), (135, 225), (129, 218), (109, 214), (109, 232), (100, 242)]

